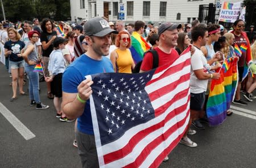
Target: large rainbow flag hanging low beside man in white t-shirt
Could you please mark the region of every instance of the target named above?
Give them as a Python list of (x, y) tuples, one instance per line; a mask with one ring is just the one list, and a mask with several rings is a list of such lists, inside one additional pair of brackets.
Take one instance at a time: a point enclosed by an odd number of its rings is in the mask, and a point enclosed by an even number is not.
[[(226, 61), (228, 62), (228, 61)], [(237, 88), (237, 58), (230, 60), (228, 69), (220, 70), (220, 79), (212, 79), (207, 102), (207, 117), (210, 126), (223, 123), (226, 119), (226, 111), (234, 99)], [(216, 70), (218, 72), (218, 70)]]

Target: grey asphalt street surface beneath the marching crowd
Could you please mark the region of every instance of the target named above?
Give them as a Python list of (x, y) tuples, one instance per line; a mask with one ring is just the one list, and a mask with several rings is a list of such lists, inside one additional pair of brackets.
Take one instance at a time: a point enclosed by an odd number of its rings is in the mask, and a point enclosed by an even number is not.
[[(55, 118), (45, 83), (40, 82), (40, 98), (50, 108), (36, 110), (28, 106), (28, 96), (9, 101), (10, 82), (0, 63), (0, 167), (81, 167), (77, 149), (72, 146), (75, 123), (62, 123)], [(27, 86), (24, 86), (26, 92)], [(160, 167), (255, 167), (255, 102), (256, 99), (246, 107), (232, 104), (234, 114), (222, 125), (205, 125), (205, 130), (189, 136), (198, 144), (197, 148), (177, 145), (169, 161)], [(20, 133), (15, 127), (22, 128), (18, 129)]]

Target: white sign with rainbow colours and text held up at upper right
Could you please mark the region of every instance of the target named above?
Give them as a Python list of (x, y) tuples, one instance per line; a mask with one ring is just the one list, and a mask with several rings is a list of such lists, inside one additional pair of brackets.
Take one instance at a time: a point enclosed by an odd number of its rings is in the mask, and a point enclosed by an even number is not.
[(234, 23), (241, 13), (241, 2), (223, 2), (218, 16), (218, 22)]

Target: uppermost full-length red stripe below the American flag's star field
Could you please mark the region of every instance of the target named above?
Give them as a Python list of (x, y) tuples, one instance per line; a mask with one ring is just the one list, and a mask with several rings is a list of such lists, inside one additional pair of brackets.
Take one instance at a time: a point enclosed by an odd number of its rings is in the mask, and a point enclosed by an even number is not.
[[(112, 153), (108, 153), (104, 155), (104, 162), (105, 164), (108, 164), (110, 162), (113, 162), (115, 160), (121, 159), (124, 156), (126, 156), (127, 154), (131, 153), (133, 148), (138, 144), (139, 141), (141, 141), (144, 137), (146, 137), (147, 135), (149, 135), (151, 132), (154, 132), (156, 130), (158, 130), (159, 128), (162, 128), (164, 126), (164, 124), (167, 123), (167, 121), (171, 120), (173, 117), (175, 117), (176, 115), (180, 114), (181, 112), (183, 112), (188, 105), (189, 102), (189, 98), (187, 100), (187, 103), (183, 104), (183, 106), (180, 106), (178, 108), (176, 108), (174, 111), (170, 112), (166, 118), (162, 121), (160, 121), (158, 124), (152, 125), (151, 127), (148, 127), (142, 131), (139, 131), (136, 135), (134, 135), (130, 141), (123, 146), (122, 149), (116, 150), (115, 152)], [(185, 117), (184, 119), (187, 119), (187, 117)]]

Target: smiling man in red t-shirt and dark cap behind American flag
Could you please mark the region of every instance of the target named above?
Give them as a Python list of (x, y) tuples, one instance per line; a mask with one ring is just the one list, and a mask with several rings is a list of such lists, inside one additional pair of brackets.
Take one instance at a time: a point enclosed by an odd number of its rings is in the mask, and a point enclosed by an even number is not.
[[(162, 66), (167, 63), (174, 62), (179, 54), (175, 50), (177, 45), (177, 29), (181, 28), (181, 24), (175, 24), (170, 22), (162, 23), (158, 28), (159, 45), (155, 48), (158, 52), (158, 66)], [(139, 72), (146, 72), (153, 67), (153, 55), (151, 52), (147, 52), (144, 55), (141, 70)]]

